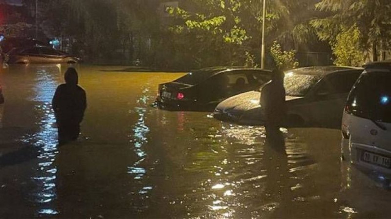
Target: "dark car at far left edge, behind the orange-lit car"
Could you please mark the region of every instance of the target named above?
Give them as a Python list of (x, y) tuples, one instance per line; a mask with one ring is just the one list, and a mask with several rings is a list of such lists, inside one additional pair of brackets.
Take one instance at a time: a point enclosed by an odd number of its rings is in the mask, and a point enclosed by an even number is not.
[(36, 39), (22, 37), (7, 37), (0, 42), (3, 53), (8, 53), (13, 48), (26, 48), (30, 46), (50, 46), (50, 44)]

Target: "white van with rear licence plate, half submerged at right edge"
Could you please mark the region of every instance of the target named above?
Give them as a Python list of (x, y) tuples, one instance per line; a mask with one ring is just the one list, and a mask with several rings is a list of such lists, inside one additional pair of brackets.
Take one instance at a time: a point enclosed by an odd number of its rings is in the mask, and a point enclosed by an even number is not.
[(387, 173), (388, 182), (384, 182), (388, 187), (391, 180), (391, 61), (369, 63), (364, 68), (344, 108), (341, 131), (349, 142), (342, 148), (343, 157), (364, 169)]

